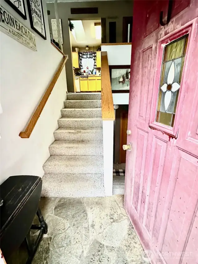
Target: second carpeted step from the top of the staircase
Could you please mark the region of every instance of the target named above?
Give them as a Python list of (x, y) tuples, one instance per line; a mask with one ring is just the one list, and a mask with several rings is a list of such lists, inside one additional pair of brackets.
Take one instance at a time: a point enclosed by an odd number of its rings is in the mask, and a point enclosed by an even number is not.
[(64, 101), (65, 108), (101, 108), (101, 100), (67, 100)]

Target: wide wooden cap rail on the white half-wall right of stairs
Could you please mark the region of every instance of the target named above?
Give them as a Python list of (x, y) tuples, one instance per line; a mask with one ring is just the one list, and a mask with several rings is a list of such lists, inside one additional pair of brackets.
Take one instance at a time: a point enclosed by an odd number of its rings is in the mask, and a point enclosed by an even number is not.
[(115, 120), (109, 63), (106, 51), (101, 52), (101, 100), (102, 120)]

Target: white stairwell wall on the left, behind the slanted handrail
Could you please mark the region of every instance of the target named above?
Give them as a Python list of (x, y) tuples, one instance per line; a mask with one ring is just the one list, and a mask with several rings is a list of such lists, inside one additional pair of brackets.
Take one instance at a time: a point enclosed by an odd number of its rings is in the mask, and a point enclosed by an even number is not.
[(62, 73), (49, 96), (43, 112), (29, 139), (22, 139), (34, 110), (45, 93), (62, 55), (50, 43), (46, 2), (43, 1), (47, 40), (34, 32), (27, 20), (22, 19), (10, 6), (2, 6), (36, 35), (37, 51), (0, 32), (1, 54), (1, 173), (0, 183), (11, 175), (43, 175), (42, 165), (49, 157), (49, 145), (54, 141), (53, 132), (58, 128), (57, 119), (66, 98), (66, 75)]

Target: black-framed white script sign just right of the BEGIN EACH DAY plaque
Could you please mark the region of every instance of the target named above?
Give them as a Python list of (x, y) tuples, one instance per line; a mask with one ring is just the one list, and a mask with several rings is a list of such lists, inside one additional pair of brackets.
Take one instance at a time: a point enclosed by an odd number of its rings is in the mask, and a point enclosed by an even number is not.
[(27, 0), (31, 28), (46, 39), (45, 21), (41, 0)]

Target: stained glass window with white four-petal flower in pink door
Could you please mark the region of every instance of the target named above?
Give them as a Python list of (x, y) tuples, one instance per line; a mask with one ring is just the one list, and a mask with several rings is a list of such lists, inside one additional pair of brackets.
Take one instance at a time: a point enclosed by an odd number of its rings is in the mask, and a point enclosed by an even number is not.
[(156, 122), (173, 127), (188, 35), (165, 46), (158, 92)]

